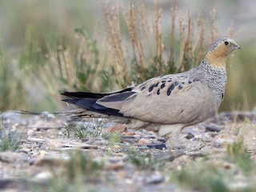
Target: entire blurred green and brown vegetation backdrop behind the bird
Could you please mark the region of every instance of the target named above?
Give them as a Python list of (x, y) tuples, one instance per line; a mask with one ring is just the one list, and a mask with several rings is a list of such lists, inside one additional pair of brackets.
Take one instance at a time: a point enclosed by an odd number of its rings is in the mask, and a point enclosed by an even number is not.
[(0, 111), (64, 110), (60, 92), (110, 91), (197, 66), (218, 37), (228, 60), (221, 110), (256, 105), (254, 1), (0, 2)]

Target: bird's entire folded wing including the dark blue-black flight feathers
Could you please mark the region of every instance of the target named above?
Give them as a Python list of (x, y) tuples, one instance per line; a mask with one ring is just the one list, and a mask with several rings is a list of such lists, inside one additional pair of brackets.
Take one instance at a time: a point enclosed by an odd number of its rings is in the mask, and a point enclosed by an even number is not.
[(197, 78), (170, 74), (110, 94), (65, 93), (73, 103), (98, 113), (162, 124), (202, 122), (214, 114), (208, 88)]

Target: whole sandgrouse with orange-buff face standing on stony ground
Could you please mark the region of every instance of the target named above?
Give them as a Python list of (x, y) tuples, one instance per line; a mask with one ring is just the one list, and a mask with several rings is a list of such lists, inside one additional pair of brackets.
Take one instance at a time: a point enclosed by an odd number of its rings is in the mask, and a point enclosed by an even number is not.
[(66, 92), (64, 95), (71, 99), (63, 101), (84, 109), (80, 115), (75, 114), (76, 117), (137, 120), (137, 126), (144, 122), (149, 129), (165, 136), (173, 127), (181, 129), (205, 121), (218, 110), (226, 87), (226, 58), (237, 49), (240, 47), (234, 40), (218, 38), (194, 69), (151, 78), (138, 86), (109, 94)]

